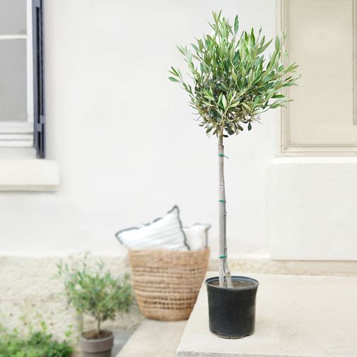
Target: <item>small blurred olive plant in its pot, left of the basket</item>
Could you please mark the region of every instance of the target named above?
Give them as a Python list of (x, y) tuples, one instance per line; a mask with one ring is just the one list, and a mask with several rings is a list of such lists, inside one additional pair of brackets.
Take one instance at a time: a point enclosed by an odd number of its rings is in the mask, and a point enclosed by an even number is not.
[(114, 335), (101, 329), (102, 322), (115, 320), (118, 312), (127, 312), (132, 303), (129, 277), (115, 278), (105, 271), (102, 262), (88, 264), (82, 259), (76, 265), (57, 264), (57, 277), (64, 280), (68, 303), (78, 315), (93, 317), (95, 328), (81, 333), (79, 345), (83, 357), (110, 357)]

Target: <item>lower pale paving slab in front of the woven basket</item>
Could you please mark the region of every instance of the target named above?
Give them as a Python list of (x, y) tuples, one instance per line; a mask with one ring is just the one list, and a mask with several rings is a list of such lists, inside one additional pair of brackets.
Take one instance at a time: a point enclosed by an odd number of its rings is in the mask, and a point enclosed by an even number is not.
[(186, 323), (144, 320), (117, 357), (175, 357)]

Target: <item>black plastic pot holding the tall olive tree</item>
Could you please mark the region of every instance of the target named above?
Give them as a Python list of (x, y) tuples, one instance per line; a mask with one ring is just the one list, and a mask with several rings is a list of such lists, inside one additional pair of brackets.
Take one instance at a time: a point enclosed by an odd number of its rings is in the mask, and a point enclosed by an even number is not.
[(255, 297), (259, 282), (246, 276), (232, 276), (232, 281), (246, 283), (241, 288), (225, 288), (218, 276), (206, 279), (209, 298), (209, 329), (225, 339), (241, 339), (254, 334)]

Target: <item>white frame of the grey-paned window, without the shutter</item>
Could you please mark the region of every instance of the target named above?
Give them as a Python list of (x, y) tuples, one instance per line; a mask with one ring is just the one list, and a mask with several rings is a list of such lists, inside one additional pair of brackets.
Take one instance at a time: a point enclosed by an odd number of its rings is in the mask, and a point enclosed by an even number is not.
[(26, 70), (27, 70), (27, 121), (1, 121), (0, 122), (0, 148), (31, 148), (33, 147), (33, 120), (34, 120), (34, 95), (33, 95), (33, 0), (26, 0), (26, 34), (25, 35), (0, 35), (0, 41), (26, 41)]

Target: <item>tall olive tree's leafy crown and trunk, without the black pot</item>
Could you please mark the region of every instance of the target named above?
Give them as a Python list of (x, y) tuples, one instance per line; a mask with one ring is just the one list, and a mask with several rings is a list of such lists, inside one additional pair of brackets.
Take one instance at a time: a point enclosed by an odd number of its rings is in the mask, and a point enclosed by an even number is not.
[(213, 12), (209, 25), (211, 35), (196, 39), (191, 49), (177, 47), (187, 62), (193, 84), (174, 67), (169, 79), (182, 84), (206, 134), (218, 137), (219, 285), (232, 287), (227, 262), (223, 138), (239, 134), (245, 126), (250, 131), (262, 113), (290, 101), (282, 89), (295, 85), (299, 77), (293, 72), (298, 65), (283, 63), (283, 57), (288, 56), (283, 45), (285, 33), (276, 36), (274, 50), (267, 59), (264, 52), (273, 40), (266, 40), (262, 28), (258, 33), (252, 28), (239, 35), (238, 16), (230, 25), (221, 12)]

